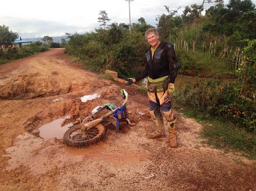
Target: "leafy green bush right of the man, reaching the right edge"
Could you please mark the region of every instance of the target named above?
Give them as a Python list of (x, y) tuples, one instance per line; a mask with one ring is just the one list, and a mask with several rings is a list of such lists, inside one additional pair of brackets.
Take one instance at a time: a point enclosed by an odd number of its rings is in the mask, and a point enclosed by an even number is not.
[(239, 128), (256, 133), (256, 40), (248, 42), (241, 68), (229, 83), (219, 79), (197, 79), (175, 94), (177, 104), (190, 108), (195, 115), (217, 117)]

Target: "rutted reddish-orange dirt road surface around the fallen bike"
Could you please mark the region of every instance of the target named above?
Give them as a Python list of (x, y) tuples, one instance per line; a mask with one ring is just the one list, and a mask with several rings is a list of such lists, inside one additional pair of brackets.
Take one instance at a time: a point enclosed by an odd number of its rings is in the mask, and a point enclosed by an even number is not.
[[(63, 49), (0, 65), (0, 190), (256, 190), (255, 161), (202, 144), (200, 124), (177, 112), (177, 148), (167, 137), (146, 139), (154, 125), (148, 99), (135, 87), (126, 90), (137, 125), (125, 132), (108, 129), (104, 141), (84, 149), (41, 138), (46, 123), (66, 116), (70, 123), (97, 105), (121, 104), (124, 86), (97, 75)], [(94, 93), (100, 98), (81, 102)]]

